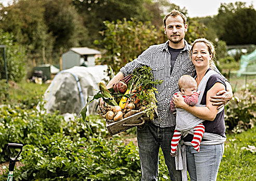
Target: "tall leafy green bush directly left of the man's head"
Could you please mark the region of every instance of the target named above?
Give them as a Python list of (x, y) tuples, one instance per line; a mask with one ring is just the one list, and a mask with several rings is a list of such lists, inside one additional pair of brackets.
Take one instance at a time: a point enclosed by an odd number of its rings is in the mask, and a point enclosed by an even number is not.
[(151, 22), (123, 19), (116, 22), (105, 21), (104, 24), (106, 29), (101, 32), (104, 39), (96, 43), (102, 44), (107, 50), (101, 63), (111, 66), (114, 72), (118, 72), (150, 45), (163, 42), (163, 32), (159, 34)]

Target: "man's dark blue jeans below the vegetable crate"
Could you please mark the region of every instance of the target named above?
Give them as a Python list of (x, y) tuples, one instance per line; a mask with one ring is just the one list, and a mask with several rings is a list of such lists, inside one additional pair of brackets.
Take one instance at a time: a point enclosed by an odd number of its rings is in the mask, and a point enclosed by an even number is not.
[(171, 180), (181, 181), (181, 171), (176, 170), (175, 159), (171, 157), (171, 139), (175, 127), (160, 128), (152, 123), (137, 127), (137, 140), (143, 181), (157, 180), (159, 148), (163, 151)]

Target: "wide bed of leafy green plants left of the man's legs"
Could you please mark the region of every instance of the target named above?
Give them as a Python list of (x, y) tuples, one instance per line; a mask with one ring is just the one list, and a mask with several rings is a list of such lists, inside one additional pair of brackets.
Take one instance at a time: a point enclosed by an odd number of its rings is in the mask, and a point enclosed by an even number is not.
[[(138, 148), (119, 135), (109, 137), (105, 120), (88, 116), (94, 136), (82, 118), (64, 121), (35, 109), (0, 108), (1, 162), (8, 161), (6, 144), (24, 144), (14, 180), (140, 180)], [(11, 153), (12, 155), (13, 153)], [(159, 180), (169, 179), (160, 153)], [(7, 168), (0, 180), (7, 177)]]

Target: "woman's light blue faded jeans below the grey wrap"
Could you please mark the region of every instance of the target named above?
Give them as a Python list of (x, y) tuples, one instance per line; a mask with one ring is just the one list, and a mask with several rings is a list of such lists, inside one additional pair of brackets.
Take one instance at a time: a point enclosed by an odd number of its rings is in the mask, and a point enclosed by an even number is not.
[(224, 143), (200, 146), (198, 153), (193, 146), (186, 146), (187, 170), (191, 181), (213, 181), (217, 179)]

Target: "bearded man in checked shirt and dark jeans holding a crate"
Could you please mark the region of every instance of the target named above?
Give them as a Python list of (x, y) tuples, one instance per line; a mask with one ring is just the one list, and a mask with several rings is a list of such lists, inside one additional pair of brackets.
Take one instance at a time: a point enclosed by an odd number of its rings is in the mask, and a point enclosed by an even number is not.
[[(158, 94), (158, 118), (137, 128), (137, 140), (142, 169), (142, 180), (157, 180), (159, 148), (163, 151), (171, 180), (182, 180), (176, 170), (175, 159), (171, 157), (171, 139), (176, 125), (176, 115), (171, 114), (170, 101), (178, 92), (178, 80), (184, 74), (195, 76), (195, 67), (190, 59), (191, 46), (184, 40), (187, 32), (186, 17), (178, 10), (172, 10), (164, 18), (164, 29), (168, 41), (149, 47), (138, 58), (126, 64), (107, 84), (107, 88), (143, 65), (150, 66), (154, 79), (164, 82), (156, 85)], [(217, 70), (217, 68), (215, 68)], [(218, 71), (218, 70), (217, 70)], [(212, 97), (215, 105), (224, 106), (232, 98), (232, 88)], [(219, 107), (219, 108), (220, 108)]]

